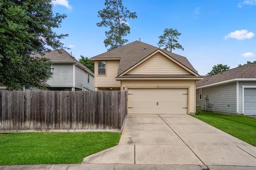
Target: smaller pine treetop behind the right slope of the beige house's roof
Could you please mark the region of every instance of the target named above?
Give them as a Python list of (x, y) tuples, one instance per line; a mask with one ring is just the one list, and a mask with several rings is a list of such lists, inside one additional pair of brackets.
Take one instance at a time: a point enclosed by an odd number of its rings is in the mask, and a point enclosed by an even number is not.
[(179, 36), (181, 35), (177, 29), (168, 29), (164, 30), (164, 34), (159, 36), (158, 46), (164, 50), (169, 50), (172, 52), (174, 49), (182, 49), (184, 48), (178, 43)]

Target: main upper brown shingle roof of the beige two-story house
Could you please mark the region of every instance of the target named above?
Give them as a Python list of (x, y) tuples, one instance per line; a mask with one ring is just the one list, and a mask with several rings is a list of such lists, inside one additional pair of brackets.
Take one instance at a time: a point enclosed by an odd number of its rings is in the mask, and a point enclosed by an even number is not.
[[(97, 55), (95, 57), (92, 57), (93, 59), (119, 59), (119, 69), (117, 75), (121, 75), (126, 70), (130, 69), (135, 64), (142, 61), (144, 58), (149, 56), (150, 54), (154, 53), (159, 48), (155, 46), (151, 46), (146, 43), (142, 43), (140, 41), (133, 41), (132, 43), (126, 44), (122, 47), (116, 48), (114, 50), (110, 50), (109, 52)], [(195, 72), (197, 71), (194, 69), (194, 67), (190, 64), (190, 62), (187, 60), (186, 57), (168, 52), (163, 49), (159, 49), (166, 55), (172, 57), (175, 61), (181, 63), (182, 65), (186, 66), (189, 70)]]

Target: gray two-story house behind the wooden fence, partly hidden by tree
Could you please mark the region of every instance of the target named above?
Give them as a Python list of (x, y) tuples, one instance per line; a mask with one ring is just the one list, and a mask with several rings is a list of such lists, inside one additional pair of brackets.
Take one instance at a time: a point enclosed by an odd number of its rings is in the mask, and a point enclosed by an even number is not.
[[(49, 58), (52, 65), (52, 77), (46, 82), (46, 90), (94, 90), (94, 74), (86, 66), (79, 63), (66, 50), (52, 50), (36, 57)], [(0, 90), (5, 87), (1, 86)], [(31, 88), (30, 90), (39, 90)]]

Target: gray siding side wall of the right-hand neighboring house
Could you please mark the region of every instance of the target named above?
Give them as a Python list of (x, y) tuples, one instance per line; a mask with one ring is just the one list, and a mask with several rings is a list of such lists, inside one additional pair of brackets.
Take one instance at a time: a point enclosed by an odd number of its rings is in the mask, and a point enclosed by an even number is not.
[(210, 111), (222, 113), (236, 113), (236, 82), (203, 88), (203, 98), (199, 100), (199, 89), (196, 90), (196, 104), (204, 110), (205, 96), (212, 104)]

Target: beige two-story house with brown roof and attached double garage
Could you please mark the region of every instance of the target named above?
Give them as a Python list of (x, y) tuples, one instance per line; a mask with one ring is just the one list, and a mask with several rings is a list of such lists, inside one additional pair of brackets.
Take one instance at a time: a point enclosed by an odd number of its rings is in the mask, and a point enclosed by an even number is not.
[(196, 81), (186, 57), (134, 41), (92, 57), (95, 90), (127, 90), (129, 114), (196, 112)]

